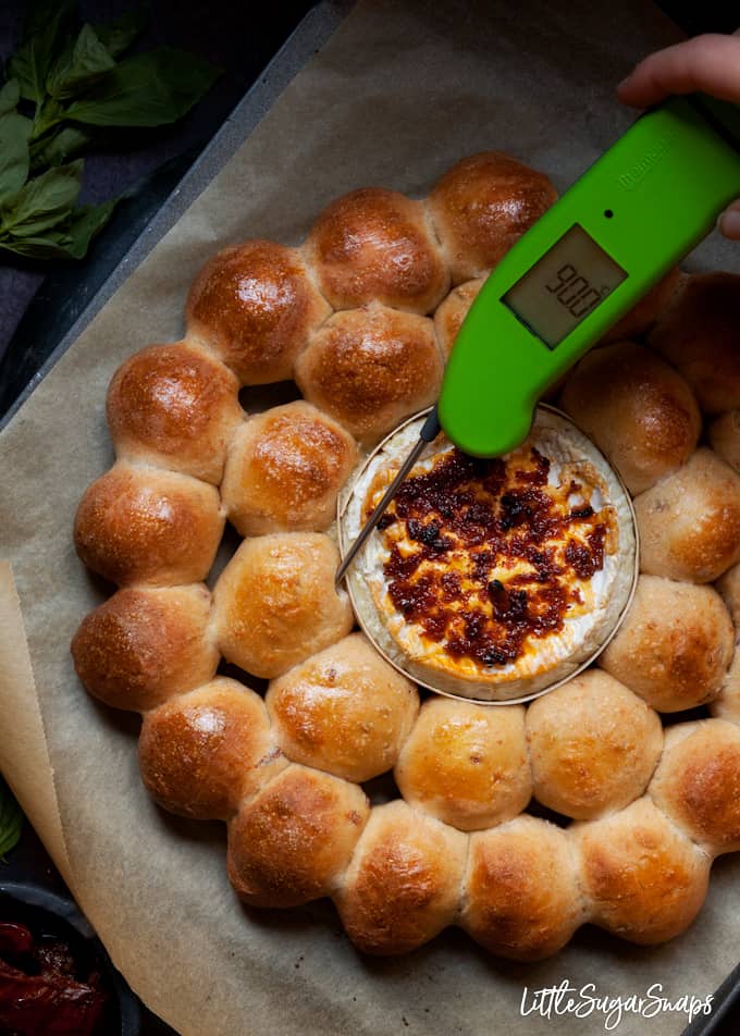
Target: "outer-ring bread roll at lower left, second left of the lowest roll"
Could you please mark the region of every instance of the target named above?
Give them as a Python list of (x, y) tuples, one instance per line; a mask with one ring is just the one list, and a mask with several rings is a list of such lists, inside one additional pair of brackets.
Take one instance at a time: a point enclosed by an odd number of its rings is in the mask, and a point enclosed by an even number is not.
[(250, 906), (297, 906), (329, 896), (369, 813), (357, 785), (291, 763), (231, 822), (229, 879)]

